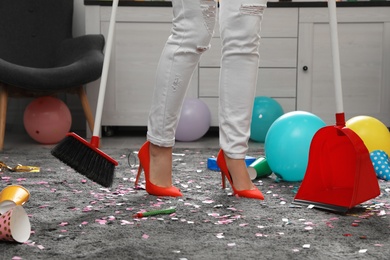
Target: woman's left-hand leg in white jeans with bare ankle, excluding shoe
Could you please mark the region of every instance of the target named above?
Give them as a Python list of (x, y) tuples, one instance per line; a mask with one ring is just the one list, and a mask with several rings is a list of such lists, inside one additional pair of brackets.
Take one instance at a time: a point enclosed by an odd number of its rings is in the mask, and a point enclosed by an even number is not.
[[(210, 47), (215, 0), (173, 0), (173, 26), (157, 68), (148, 120), (152, 183), (172, 185), (172, 147), (184, 97), (200, 56)], [(158, 171), (158, 174), (157, 174)]]

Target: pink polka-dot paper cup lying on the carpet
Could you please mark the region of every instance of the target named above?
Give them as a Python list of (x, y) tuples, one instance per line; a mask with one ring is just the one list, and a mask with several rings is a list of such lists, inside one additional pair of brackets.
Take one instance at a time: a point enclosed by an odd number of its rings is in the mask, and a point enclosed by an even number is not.
[(15, 206), (0, 216), (0, 241), (24, 243), (30, 234), (30, 220), (22, 206)]

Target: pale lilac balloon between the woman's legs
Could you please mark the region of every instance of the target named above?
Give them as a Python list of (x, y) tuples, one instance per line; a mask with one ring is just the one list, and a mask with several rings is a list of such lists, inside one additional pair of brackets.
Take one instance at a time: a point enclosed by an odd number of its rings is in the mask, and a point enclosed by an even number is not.
[(186, 98), (176, 129), (176, 140), (191, 142), (206, 134), (211, 124), (211, 113), (202, 100)]

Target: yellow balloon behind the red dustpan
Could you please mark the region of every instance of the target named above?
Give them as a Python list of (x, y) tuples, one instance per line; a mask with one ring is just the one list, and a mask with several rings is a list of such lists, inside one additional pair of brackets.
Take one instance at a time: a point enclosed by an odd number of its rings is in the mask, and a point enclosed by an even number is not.
[(383, 150), (390, 154), (389, 129), (378, 119), (371, 116), (356, 116), (349, 119), (345, 126), (363, 140), (368, 152)]

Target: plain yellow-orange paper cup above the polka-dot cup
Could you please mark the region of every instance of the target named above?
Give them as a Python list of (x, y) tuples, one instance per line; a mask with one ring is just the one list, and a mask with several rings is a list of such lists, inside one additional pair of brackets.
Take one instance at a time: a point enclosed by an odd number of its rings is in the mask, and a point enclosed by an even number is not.
[(30, 198), (30, 192), (20, 185), (9, 185), (0, 192), (0, 214), (13, 205), (23, 205)]

